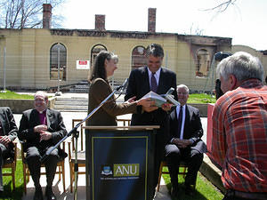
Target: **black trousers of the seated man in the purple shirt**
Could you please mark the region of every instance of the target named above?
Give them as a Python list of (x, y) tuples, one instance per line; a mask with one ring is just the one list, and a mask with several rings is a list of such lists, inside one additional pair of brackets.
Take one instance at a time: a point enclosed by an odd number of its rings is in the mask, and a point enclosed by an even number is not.
[[(44, 156), (45, 152), (48, 151), (50, 148), (46, 149), (40, 149), (36, 147), (30, 147), (27, 149), (27, 164), (28, 164), (28, 170), (30, 172), (30, 175), (32, 177), (32, 180), (34, 181), (35, 187), (39, 188), (40, 186), (40, 173), (41, 173), (41, 162), (40, 158)], [(47, 159), (44, 161), (45, 166), (45, 172), (46, 172), (46, 187), (52, 187), (53, 185), (53, 178), (54, 174), (56, 172), (57, 163), (59, 162), (59, 150), (57, 148), (53, 149), (50, 156), (47, 157)]]

